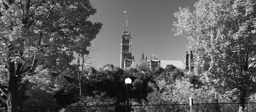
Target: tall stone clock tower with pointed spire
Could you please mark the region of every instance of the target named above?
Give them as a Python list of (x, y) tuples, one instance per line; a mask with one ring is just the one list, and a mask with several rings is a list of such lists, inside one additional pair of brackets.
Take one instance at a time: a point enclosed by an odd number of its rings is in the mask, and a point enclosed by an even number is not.
[(128, 19), (126, 16), (124, 31), (121, 37), (121, 56), (120, 56), (120, 68), (129, 67), (134, 61), (131, 53), (131, 34), (128, 28)]

